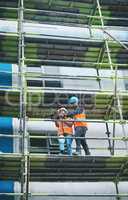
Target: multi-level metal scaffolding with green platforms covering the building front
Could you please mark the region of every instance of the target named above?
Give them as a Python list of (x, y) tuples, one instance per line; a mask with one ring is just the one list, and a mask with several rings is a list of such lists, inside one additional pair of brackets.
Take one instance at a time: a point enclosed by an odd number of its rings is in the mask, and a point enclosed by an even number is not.
[[(118, 13), (116, 9), (118, 9)], [(126, 132), (128, 93), (126, 89), (118, 88), (118, 81), (128, 80), (128, 76), (118, 75), (118, 70), (128, 69), (128, 41), (120, 41), (108, 31), (108, 27), (111, 29), (115, 27), (117, 31), (127, 30), (127, 10), (127, 1), (119, 3), (114, 0), (40, 0), (38, 3), (35, 0), (13, 0), (11, 2), (2, 0), (0, 2), (0, 19), (17, 23), (17, 31), (0, 32), (2, 44), (0, 61), (17, 64), (18, 73), (13, 72), (13, 74), (17, 75), (19, 79), (19, 86), (0, 86), (1, 115), (20, 119), (20, 135), (7, 135), (7, 137), (18, 137), (21, 140), (21, 153), (0, 154), (0, 163), (4, 166), (0, 169), (0, 179), (21, 182), (21, 192), (1, 193), (0, 195), (21, 196), (22, 200), (28, 200), (34, 195), (48, 196), (44, 193), (30, 194), (30, 181), (112, 181), (115, 183), (117, 194), (94, 196), (116, 197), (117, 199), (128, 197), (128, 193), (120, 194), (118, 191), (118, 183), (128, 181), (128, 134)], [(27, 23), (30, 27), (35, 28), (41, 27), (42, 24), (85, 28), (89, 31), (89, 37), (29, 33), (25, 31)], [(100, 30), (103, 38), (95, 38), (94, 30)], [(82, 68), (93, 68), (96, 69), (97, 75), (67, 76), (28, 72), (27, 67), (35, 65), (57, 68), (77, 67), (81, 70)], [(100, 75), (101, 69), (110, 70), (111, 75)], [(3, 70), (1, 73), (9, 72)], [(27, 85), (30, 78), (91, 80), (97, 81), (99, 87), (98, 89), (31, 87)], [(103, 79), (112, 81), (113, 88), (111, 90), (101, 86)], [(4, 101), (6, 93), (13, 102), (17, 103), (13, 109)], [(87, 140), (108, 141), (110, 156), (63, 158), (58, 155), (30, 153), (32, 138), (57, 137), (32, 136), (27, 130), (26, 123), (29, 120), (54, 121), (50, 118), (57, 108), (57, 104), (52, 104), (54, 96), (57, 96), (59, 102), (67, 107), (66, 99), (72, 94), (81, 99), (84, 97), (88, 115), (88, 119), (85, 121), (106, 125), (107, 138), (87, 138)], [(34, 105), (30, 109), (30, 98), (36, 102), (38, 97), (41, 98), (42, 105)], [(110, 136), (109, 123), (113, 126), (112, 136)], [(122, 126), (122, 137), (116, 136), (116, 124)], [(6, 137), (6, 135), (1, 134), (0, 137)], [(123, 156), (115, 156), (115, 141), (117, 140), (123, 141), (125, 144), (125, 155)], [(80, 172), (78, 166), (81, 168)], [(66, 197), (66, 195), (64, 196)], [(70, 196), (70, 194), (67, 195), (67, 197)], [(90, 194), (83, 195), (83, 197), (92, 196)]]

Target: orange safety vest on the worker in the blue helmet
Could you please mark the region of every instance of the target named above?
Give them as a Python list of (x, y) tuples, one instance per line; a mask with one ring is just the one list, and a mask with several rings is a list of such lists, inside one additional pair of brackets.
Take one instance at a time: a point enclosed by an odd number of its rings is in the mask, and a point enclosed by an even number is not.
[(80, 120), (79, 122), (74, 122), (74, 126), (88, 126), (87, 122), (82, 122), (82, 119), (85, 120), (86, 119), (86, 114), (85, 113), (80, 113), (80, 114), (76, 114), (74, 115), (74, 119), (76, 120)]

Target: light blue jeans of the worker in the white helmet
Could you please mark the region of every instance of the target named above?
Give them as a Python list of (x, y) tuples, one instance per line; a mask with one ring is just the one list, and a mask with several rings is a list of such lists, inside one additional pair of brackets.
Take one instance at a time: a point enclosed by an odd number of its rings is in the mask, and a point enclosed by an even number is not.
[(59, 141), (60, 151), (64, 151), (64, 143), (66, 143), (67, 154), (71, 156), (72, 155), (72, 141), (73, 141), (72, 135), (65, 134), (64, 137), (60, 136), (58, 141)]

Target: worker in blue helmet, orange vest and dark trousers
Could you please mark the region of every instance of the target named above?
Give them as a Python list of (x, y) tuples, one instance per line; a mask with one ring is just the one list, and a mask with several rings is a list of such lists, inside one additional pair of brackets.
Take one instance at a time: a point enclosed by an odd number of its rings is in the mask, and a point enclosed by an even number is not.
[(68, 116), (73, 117), (76, 120), (74, 122), (75, 137), (76, 137), (76, 154), (81, 155), (81, 146), (82, 146), (85, 151), (85, 154), (90, 155), (89, 148), (85, 139), (85, 134), (86, 131), (88, 130), (87, 122), (85, 122), (86, 118), (85, 110), (83, 107), (79, 106), (79, 100), (76, 96), (72, 96), (71, 98), (69, 98), (68, 103), (73, 108), (73, 111), (69, 112)]

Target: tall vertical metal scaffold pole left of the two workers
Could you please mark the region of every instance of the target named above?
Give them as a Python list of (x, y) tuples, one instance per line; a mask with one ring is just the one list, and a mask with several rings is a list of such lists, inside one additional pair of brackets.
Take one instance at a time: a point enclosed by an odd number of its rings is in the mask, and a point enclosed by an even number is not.
[(18, 4), (18, 34), (19, 34), (19, 82), (20, 82), (20, 134), (21, 134), (21, 200), (28, 200), (29, 192), (29, 155), (28, 155), (28, 141), (29, 135), (26, 129), (26, 102), (27, 90), (25, 80), (25, 63), (24, 63), (24, 0), (19, 0)]

